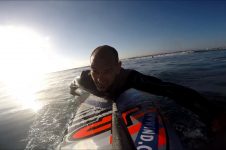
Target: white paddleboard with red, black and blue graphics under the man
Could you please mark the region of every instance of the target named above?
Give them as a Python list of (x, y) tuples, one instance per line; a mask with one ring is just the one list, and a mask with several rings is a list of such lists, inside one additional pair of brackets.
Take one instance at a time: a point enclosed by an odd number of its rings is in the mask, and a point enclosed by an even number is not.
[[(118, 122), (113, 116), (113, 102), (85, 91), (76, 100), (82, 103), (57, 149), (112, 149), (117, 139), (112, 128)], [(153, 96), (129, 89), (115, 103), (135, 149), (182, 149), (176, 133), (154, 104)]]

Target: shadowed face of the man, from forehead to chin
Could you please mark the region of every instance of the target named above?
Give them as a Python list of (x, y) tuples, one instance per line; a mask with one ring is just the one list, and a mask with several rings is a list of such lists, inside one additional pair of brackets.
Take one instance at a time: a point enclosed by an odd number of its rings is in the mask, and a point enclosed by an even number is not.
[(111, 57), (91, 57), (91, 76), (99, 91), (109, 89), (120, 69), (121, 62), (116, 62)]

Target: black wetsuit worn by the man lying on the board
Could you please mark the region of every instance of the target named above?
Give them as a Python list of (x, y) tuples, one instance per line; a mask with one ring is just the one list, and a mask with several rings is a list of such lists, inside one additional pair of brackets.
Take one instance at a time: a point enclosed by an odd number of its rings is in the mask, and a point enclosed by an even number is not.
[[(90, 74), (90, 70), (83, 71), (80, 76), (79, 85), (75, 81), (71, 84), (73, 87), (81, 87), (90, 93), (99, 97), (116, 99), (121, 93), (129, 88), (135, 88), (151, 94), (166, 96), (175, 100), (181, 106), (190, 109), (200, 116), (200, 118), (210, 123), (218, 110), (213, 110), (212, 104), (201, 96), (198, 92), (170, 82), (163, 82), (158, 78), (144, 75), (135, 70), (121, 69), (114, 83), (106, 92), (97, 90)], [(209, 110), (211, 109), (211, 113)], [(214, 113), (215, 112), (215, 113)]]

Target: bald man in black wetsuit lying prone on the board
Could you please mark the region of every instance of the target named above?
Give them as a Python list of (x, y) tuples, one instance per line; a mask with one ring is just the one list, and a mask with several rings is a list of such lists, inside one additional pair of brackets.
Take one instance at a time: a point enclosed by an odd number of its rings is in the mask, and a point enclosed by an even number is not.
[(92, 52), (90, 61), (91, 70), (83, 71), (80, 79), (72, 82), (70, 86), (72, 95), (76, 95), (75, 89), (80, 87), (99, 97), (115, 100), (125, 90), (135, 88), (172, 98), (176, 103), (199, 115), (205, 123), (213, 127), (212, 130), (222, 128), (219, 120), (215, 119), (221, 110), (213, 107), (199, 93), (184, 86), (163, 82), (135, 70), (122, 68), (115, 48), (108, 45), (97, 47)]

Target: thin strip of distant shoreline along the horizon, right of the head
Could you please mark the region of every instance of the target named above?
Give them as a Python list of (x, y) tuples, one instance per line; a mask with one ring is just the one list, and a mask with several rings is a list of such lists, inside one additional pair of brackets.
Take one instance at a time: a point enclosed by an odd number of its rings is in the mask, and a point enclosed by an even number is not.
[(194, 49), (194, 50), (179, 50), (179, 51), (171, 51), (171, 52), (161, 52), (157, 54), (149, 54), (149, 55), (142, 55), (142, 56), (134, 56), (134, 57), (128, 57), (128, 58), (123, 58), (120, 60), (130, 60), (130, 59), (136, 59), (136, 58), (142, 58), (142, 57), (156, 57), (156, 56), (162, 56), (162, 55), (168, 55), (168, 54), (176, 54), (176, 53), (203, 53), (203, 52), (209, 52), (209, 51), (224, 51), (226, 48), (212, 48), (212, 49)]

